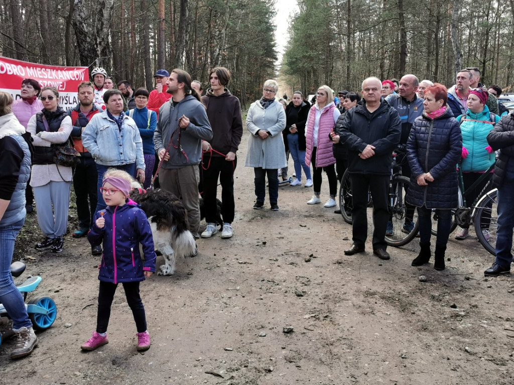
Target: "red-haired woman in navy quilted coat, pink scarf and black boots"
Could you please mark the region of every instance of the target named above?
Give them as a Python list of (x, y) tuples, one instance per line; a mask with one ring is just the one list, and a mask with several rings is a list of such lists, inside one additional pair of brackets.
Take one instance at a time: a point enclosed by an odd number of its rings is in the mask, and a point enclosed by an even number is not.
[(414, 121), (407, 142), (412, 174), (405, 200), (417, 206), (421, 247), (412, 265), (420, 266), (430, 260), (431, 215), (435, 209), (438, 216), (436, 270), (445, 268), (451, 209), (458, 206), (456, 165), (462, 153), (461, 127), (446, 106), (447, 98), (447, 89), (442, 84), (436, 83), (425, 90), (425, 110)]

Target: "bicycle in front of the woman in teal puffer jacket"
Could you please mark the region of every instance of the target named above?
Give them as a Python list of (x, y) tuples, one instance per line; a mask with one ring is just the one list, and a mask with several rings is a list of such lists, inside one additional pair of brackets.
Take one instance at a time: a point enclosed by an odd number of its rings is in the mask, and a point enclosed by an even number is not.
[[(495, 255), (496, 233), (498, 226), (498, 189), (491, 187), (491, 179), (484, 186), (478, 198), (468, 206), (466, 203), (466, 195), (469, 195), (475, 186), (478, 186), (486, 178), (490, 178), (491, 171), (494, 168), (494, 163), (477, 179), (467, 190), (464, 189), (464, 182), (462, 177), (462, 168), (459, 167), (458, 171), (458, 202), (457, 209), (452, 210), (452, 223), (450, 226), (450, 233), (458, 226), (469, 227), (472, 223), (475, 228), (476, 238), (484, 246), (484, 248)], [(463, 192), (464, 191), (464, 192)], [(468, 191), (468, 193), (466, 193)], [(437, 215), (432, 217), (432, 234), (437, 235)]]

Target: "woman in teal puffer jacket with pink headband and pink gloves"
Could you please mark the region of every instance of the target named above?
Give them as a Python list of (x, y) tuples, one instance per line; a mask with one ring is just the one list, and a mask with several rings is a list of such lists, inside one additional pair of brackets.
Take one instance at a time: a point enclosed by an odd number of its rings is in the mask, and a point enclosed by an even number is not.
[[(487, 92), (482, 89), (472, 90), (468, 96), (466, 115), (457, 117), (462, 131), (463, 160), (461, 167), (468, 206), (479, 196), (489, 182), (490, 176), (472, 190), (469, 187), (494, 163), (494, 151), (487, 143), (487, 135), (498, 123), (500, 117), (489, 111), (489, 108), (485, 105), (487, 98)], [(459, 228), (455, 234), (455, 239), (466, 239), (468, 236), (469, 229), (467, 227)]]

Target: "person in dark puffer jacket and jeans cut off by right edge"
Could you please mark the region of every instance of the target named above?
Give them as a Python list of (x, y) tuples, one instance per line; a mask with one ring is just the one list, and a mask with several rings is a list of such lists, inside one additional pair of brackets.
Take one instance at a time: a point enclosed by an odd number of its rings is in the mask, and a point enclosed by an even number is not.
[(486, 276), (510, 273), (512, 228), (514, 227), (514, 114), (504, 115), (487, 136), (493, 150), (500, 150), (492, 182), (498, 188), (498, 232), (496, 260)]

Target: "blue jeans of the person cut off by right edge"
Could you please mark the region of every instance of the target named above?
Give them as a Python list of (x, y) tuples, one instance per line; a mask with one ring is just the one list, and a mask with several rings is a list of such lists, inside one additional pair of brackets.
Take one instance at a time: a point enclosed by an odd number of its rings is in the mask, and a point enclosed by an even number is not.
[(514, 228), (514, 179), (506, 179), (498, 189), (498, 232), (496, 263), (510, 267), (512, 262), (512, 229)]

